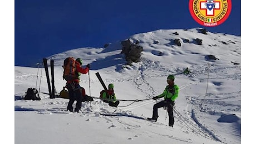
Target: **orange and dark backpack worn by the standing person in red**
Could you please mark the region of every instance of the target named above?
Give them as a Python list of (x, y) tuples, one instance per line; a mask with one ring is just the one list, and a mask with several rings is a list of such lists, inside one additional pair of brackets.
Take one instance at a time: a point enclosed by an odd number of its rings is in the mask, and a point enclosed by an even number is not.
[(76, 78), (76, 60), (73, 57), (64, 60), (63, 69), (63, 79), (70, 81)]

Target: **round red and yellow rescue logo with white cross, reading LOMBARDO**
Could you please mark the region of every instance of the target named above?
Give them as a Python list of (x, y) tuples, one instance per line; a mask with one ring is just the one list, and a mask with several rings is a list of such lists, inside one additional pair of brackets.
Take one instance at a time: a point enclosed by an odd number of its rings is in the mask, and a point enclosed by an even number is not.
[(231, 9), (231, 0), (189, 0), (191, 16), (205, 27), (216, 27), (225, 22)]

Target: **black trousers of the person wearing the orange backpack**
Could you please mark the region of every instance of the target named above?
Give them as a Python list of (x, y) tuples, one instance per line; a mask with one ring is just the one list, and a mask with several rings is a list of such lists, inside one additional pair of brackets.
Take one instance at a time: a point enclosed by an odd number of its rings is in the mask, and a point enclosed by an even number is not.
[(76, 100), (75, 111), (79, 112), (82, 106), (82, 92), (80, 85), (78, 83), (69, 83), (67, 84), (67, 90), (70, 98), (70, 101), (68, 101), (67, 110), (73, 111), (72, 105)]

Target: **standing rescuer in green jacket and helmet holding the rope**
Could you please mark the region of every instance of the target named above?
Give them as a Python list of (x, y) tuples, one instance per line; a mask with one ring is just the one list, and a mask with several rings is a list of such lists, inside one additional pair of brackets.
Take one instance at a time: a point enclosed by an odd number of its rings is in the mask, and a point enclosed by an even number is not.
[(179, 87), (174, 84), (174, 75), (169, 75), (167, 77), (168, 85), (165, 87), (163, 94), (153, 97), (153, 100), (159, 99), (164, 97), (163, 101), (157, 102), (153, 106), (153, 115), (152, 118), (147, 118), (148, 120), (155, 120), (157, 121), (158, 112), (157, 109), (160, 107), (167, 107), (168, 115), (169, 115), (169, 126), (173, 127), (174, 125), (174, 116), (173, 116), (173, 106), (175, 104), (175, 99), (178, 97), (179, 94)]

